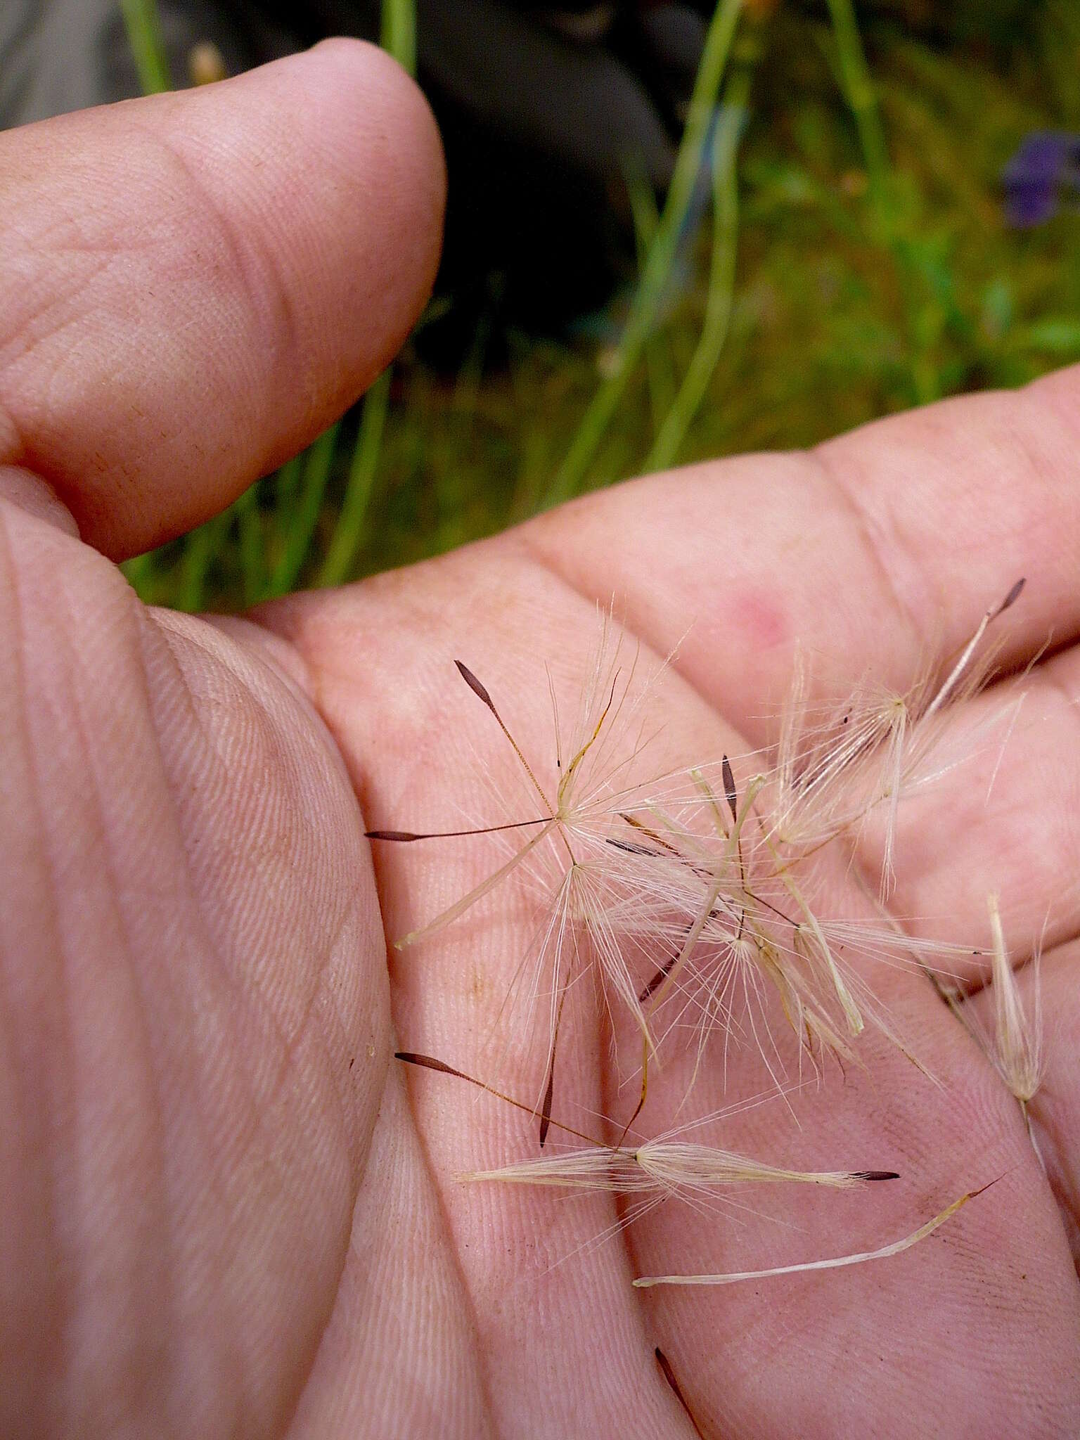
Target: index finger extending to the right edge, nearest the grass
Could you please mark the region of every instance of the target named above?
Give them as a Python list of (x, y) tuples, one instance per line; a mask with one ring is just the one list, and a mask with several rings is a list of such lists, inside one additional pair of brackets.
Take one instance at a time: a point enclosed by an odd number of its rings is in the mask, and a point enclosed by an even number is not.
[[(521, 539), (755, 742), (811, 654), (818, 693), (906, 687), (1027, 576), (1021, 661), (1080, 628), (1080, 367), (867, 425), (806, 455), (697, 465), (589, 497)], [(615, 540), (616, 543), (612, 543)], [(723, 660), (721, 660), (723, 657)]]

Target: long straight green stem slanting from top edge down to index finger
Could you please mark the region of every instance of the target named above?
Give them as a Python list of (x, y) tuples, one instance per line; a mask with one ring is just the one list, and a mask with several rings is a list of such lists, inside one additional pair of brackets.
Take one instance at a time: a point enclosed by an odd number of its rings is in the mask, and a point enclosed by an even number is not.
[(671, 186), (664, 202), (664, 212), (657, 235), (649, 246), (641, 284), (634, 295), (631, 312), (619, 344), (615, 367), (593, 395), (592, 403), (577, 428), (577, 433), (559, 467), (544, 497), (547, 505), (557, 504), (575, 495), (585, 480), (586, 471), (619, 408), (634, 369), (641, 357), (645, 340), (660, 307), (661, 297), (671, 275), (671, 266), (678, 251), (694, 186), (701, 171), (701, 157), (708, 138), (708, 127), (716, 108), (720, 84), (732, 50), (743, 0), (720, 0), (706, 33), (694, 92), (690, 98), (687, 124), (678, 147)]

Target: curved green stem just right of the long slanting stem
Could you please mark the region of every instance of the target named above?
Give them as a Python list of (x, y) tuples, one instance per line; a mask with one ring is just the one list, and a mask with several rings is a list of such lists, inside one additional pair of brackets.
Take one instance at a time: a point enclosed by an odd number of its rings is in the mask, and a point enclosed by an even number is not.
[(713, 251), (708, 269), (708, 300), (701, 336), (678, 389), (664, 418), (660, 435), (645, 459), (645, 471), (664, 469), (678, 456), (678, 448), (701, 408), (720, 351), (727, 338), (734, 295), (734, 262), (739, 239), (739, 180), (736, 160), (739, 138), (750, 94), (747, 72), (737, 75), (727, 89), (726, 104), (713, 143)]

